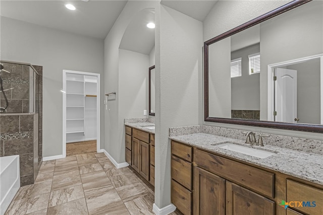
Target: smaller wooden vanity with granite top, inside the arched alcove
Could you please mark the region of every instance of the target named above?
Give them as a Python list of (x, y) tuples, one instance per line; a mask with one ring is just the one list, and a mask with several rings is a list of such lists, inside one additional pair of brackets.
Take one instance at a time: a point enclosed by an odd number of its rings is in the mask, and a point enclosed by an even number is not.
[(155, 182), (154, 124), (126, 124), (126, 162), (152, 186)]

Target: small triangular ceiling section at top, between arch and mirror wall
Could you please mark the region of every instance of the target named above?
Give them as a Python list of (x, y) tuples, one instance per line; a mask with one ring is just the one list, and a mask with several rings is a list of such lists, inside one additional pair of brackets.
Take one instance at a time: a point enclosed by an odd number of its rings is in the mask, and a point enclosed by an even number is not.
[(176, 11), (179, 11), (187, 16), (190, 16), (201, 22), (204, 21), (207, 14), (213, 8), (218, 0), (208, 1), (174, 1), (174, 0), (162, 0), (161, 4), (166, 5)]

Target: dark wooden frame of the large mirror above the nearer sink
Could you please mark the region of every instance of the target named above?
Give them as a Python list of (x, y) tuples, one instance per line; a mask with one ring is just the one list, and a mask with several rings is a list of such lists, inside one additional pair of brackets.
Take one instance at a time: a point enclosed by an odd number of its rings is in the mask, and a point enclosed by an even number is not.
[(255, 121), (255, 120), (218, 118), (218, 117), (208, 116), (208, 113), (209, 113), (208, 111), (208, 46), (222, 39), (230, 37), (233, 34), (236, 34), (240, 31), (243, 31), (261, 22), (264, 22), (268, 19), (271, 19), (287, 11), (290, 11), (308, 2), (311, 2), (311, 0), (306, 0), (306, 1), (295, 0), (293, 2), (290, 2), (280, 8), (277, 8), (271, 12), (261, 15), (249, 22), (246, 22), (234, 29), (231, 29), (230, 31), (227, 31), (217, 37), (214, 37), (204, 42), (204, 121), (238, 124), (238, 125), (250, 125), (250, 126), (258, 126), (258, 127), (280, 128), (280, 129), (288, 129), (288, 130), (309, 131), (309, 132), (318, 132), (318, 133), (323, 132), (323, 125), (297, 124), (297, 123), (294, 124), (294, 123), (273, 122), (273, 121)]

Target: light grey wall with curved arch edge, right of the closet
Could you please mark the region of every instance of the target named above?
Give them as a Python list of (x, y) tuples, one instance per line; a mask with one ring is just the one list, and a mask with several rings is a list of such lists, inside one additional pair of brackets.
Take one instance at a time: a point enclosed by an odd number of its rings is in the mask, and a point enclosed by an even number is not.
[[(158, 5), (157, 1), (129, 1), (109, 34), (104, 39), (104, 94), (116, 92), (116, 99), (108, 101), (104, 115), (105, 122), (105, 142), (104, 149), (116, 160), (117, 163), (125, 162), (125, 126), (124, 118), (127, 118), (122, 113), (123, 109), (119, 95), (123, 90), (123, 85), (120, 83), (119, 77), (119, 46), (122, 37), (132, 19), (140, 11), (147, 8), (155, 8)], [(148, 56), (148, 55), (147, 55)], [(144, 69), (144, 73), (148, 76), (148, 61)], [(146, 84), (148, 81), (146, 82)], [(146, 97), (145, 97), (146, 98)], [(147, 104), (147, 103), (144, 103)], [(143, 117), (143, 109), (141, 117)], [(131, 116), (133, 117), (133, 116)]]

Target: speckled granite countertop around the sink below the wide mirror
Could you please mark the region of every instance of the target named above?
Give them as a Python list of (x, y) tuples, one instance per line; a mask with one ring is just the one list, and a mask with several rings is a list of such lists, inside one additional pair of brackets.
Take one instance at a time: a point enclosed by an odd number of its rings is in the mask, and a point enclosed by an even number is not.
[[(264, 147), (251, 147), (240, 139), (234, 139), (208, 133), (170, 136), (170, 139), (323, 185), (322, 155), (300, 152), (271, 145), (265, 145)], [(211, 146), (211, 144), (221, 144), (225, 141), (232, 141), (238, 143), (238, 145), (241, 146), (247, 146), (254, 149), (273, 152), (275, 153), (275, 155), (261, 159), (238, 152), (221, 149), (217, 146)]]

